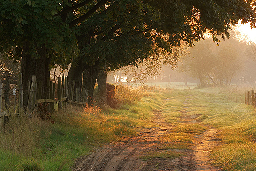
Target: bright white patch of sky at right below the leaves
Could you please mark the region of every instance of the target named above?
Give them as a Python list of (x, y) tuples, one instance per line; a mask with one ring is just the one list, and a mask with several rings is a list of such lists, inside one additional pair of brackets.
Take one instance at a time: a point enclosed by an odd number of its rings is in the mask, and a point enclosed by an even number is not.
[(240, 40), (256, 43), (256, 29), (251, 29), (249, 23), (238, 24), (235, 29), (241, 33)]

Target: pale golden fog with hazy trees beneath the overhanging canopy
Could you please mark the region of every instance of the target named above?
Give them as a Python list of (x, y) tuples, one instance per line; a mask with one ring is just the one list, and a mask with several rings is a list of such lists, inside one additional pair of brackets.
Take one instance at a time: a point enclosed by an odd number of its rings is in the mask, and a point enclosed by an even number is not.
[[(182, 45), (178, 50), (179, 62), (170, 66), (164, 62), (150, 62), (126, 67), (108, 74), (108, 82), (127, 85), (160, 85), (168, 87), (207, 85), (256, 85), (256, 45), (241, 25), (232, 29), (230, 38), (214, 43), (211, 37), (196, 42), (194, 47)], [(243, 28), (243, 29), (242, 29)], [(249, 30), (249, 31), (248, 31)], [(171, 58), (173, 57), (169, 57)], [(161, 60), (161, 59), (160, 59)], [(176, 83), (175, 83), (176, 82)], [(179, 82), (179, 83), (178, 83)], [(165, 84), (164, 84), (165, 83)]]

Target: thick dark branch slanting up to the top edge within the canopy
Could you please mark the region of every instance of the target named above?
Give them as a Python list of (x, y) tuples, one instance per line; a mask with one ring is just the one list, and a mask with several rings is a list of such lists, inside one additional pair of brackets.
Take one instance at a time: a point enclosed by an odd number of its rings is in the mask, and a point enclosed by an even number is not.
[(86, 20), (88, 17), (90, 17), (101, 5), (105, 4), (109, 0), (101, 0), (99, 1), (95, 6), (93, 6), (87, 13), (82, 15), (81, 17), (78, 17), (77, 19), (71, 21), (69, 23), (69, 28), (75, 26), (78, 23), (81, 23), (82, 21)]

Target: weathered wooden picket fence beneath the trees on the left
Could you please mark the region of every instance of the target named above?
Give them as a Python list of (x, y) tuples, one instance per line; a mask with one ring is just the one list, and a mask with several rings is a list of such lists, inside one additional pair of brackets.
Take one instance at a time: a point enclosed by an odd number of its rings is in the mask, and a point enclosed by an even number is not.
[[(5, 84), (9, 84), (8, 82)], [(88, 97), (88, 90), (79, 88), (75, 89), (75, 81), (70, 84), (67, 82), (67, 77), (62, 75), (58, 77), (58, 82), (52, 82), (50, 78), (47, 80), (46, 87), (43, 87), (43, 83), (36, 81), (36, 76), (32, 76), (32, 80), (28, 81), (29, 99), (28, 106), (23, 106), (23, 91), (25, 91), (22, 85), (22, 73), (19, 73), (18, 88), (13, 89), (12, 95), (14, 96), (14, 110), (16, 109), (16, 99), (18, 99), (19, 110), (22, 110), (27, 115), (31, 115), (36, 109), (37, 104), (47, 104), (47, 110), (49, 112), (58, 111), (66, 106), (67, 103), (85, 105)], [(18, 93), (17, 93), (18, 92)], [(18, 98), (16, 98), (18, 96)], [(46, 98), (43, 98), (46, 97)], [(2, 117), (11, 113), (9, 109), (2, 111), (2, 99), (3, 99), (3, 84), (0, 83), (0, 122)], [(6, 103), (6, 102), (5, 102)], [(13, 111), (15, 113), (15, 111)], [(1, 124), (0, 124), (1, 125)]]

